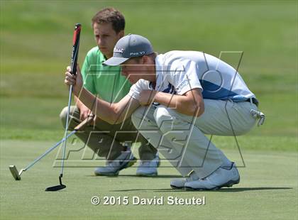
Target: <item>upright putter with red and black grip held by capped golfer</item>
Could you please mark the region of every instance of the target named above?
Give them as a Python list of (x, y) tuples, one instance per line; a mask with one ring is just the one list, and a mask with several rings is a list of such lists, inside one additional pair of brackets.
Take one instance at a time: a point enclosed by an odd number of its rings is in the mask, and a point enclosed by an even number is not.
[[(72, 63), (71, 63), (71, 73), (75, 75), (77, 72), (77, 57), (79, 55), (79, 35), (81, 33), (81, 25), (77, 23), (75, 25), (75, 32), (72, 39)], [(64, 160), (65, 160), (65, 149), (66, 149), (66, 137), (67, 137), (67, 130), (68, 130), (68, 120), (70, 116), (70, 104), (72, 101), (72, 85), (70, 85), (70, 92), (68, 94), (68, 106), (67, 106), (67, 118), (66, 118), (66, 125), (65, 125), (65, 142), (63, 147), (63, 155), (62, 155), (62, 164), (61, 164), (61, 172), (59, 176), (59, 183), (60, 185), (56, 185), (53, 187), (48, 187), (45, 191), (58, 191), (60, 189), (64, 189), (66, 186), (62, 184), (62, 177), (63, 177), (63, 169), (64, 169)]]

